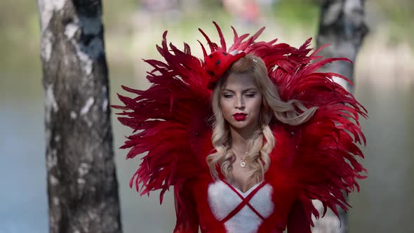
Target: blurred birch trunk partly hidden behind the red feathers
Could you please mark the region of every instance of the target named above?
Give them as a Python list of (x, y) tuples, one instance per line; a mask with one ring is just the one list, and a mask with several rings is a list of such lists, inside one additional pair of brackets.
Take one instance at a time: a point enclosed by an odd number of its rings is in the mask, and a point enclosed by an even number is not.
[[(324, 0), (321, 6), (319, 22), (319, 34), (317, 47), (331, 44), (324, 48), (319, 55), (326, 58), (348, 58), (355, 64), (356, 55), (361, 47), (364, 36), (368, 33), (368, 27), (364, 22), (364, 0)], [(326, 65), (321, 72), (335, 72), (346, 76), (354, 82), (354, 64), (347, 61), (337, 61)], [(354, 86), (343, 79), (334, 79), (354, 93)], [(319, 201), (314, 201), (323, 208)], [(315, 222), (312, 229), (314, 233), (346, 233), (348, 232), (348, 218), (344, 211), (340, 211), (340, 221), (332, 211), (328, 211), (325, 217)]]

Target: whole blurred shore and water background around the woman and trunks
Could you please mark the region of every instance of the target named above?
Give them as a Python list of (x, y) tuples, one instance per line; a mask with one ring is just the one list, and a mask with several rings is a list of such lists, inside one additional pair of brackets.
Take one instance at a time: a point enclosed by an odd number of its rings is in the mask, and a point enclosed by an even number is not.
[[(230, 1), (227, 1), (230, 2)], [(105, 49), (112, 104), (121, 84), (147, 88), (142, 58), (159, 58), (155, 45), (182, 41), (201, 57), (197, 28), (215, 34), (222, 27), (227, 44), (230, 25), (239, 34), (268, 41), (279, 38), (300, 46), (316, 38), (320, 1), (258, 0), (258, 8), (223, 7), (222, 1), (103, 1)], [(361, 124), (368, 178), (350, 197), (349, 232), (414, 232), (414, 1), (368, 0), (370, 29), (355, 62), (355, 95), (368, 109)], [(47, 232), (44, 93), (41, 85), (40, 27), (36, 1), (0, 1), (0, 232)], [(216, 39), (218, 37), (215, 37)], [(313, 41), (316, 44), (316, 41)], [(112, 115), (114, 145), (131, 134)], [(140, 198), (128, 182), (139, 158), (125, 161), (116, 149), (124, 232), (171, 232), (173, 197), (159, 206), (158, 194)]]

